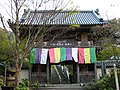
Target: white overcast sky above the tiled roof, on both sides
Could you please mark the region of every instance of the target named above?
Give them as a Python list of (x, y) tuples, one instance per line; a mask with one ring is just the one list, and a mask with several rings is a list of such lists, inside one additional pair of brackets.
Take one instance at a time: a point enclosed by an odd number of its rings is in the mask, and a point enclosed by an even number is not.
[[(2, 14), (2, 16), (5, 17), (6, 20), (10, 18), (10, 15), (8, 13), (10, 12), (10, 6), (8, 6), (8, 1), (11, 0), (0, 0), (0, 13)], [(64, 1), (66, 2), (66, 0)], [(120, 0), (72, 0), (72, 1), (73, 4), (69, 5), (67, 7), (68, 9), (71, 8), (72, 5), (78, 6), (77, 8), (78, 10), (99, 9), (99, 13), (104, 20), (120, 18)], [(63, 2), (63, 4), (65, 2)]]

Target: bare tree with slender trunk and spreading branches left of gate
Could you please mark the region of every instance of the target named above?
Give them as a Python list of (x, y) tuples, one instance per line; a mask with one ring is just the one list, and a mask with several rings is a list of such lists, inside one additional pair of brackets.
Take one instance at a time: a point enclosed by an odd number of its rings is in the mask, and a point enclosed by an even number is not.
[[(25, 19), (29, 19), (31, 18), (31, 21), (29, 22), (29, 28), (28, 30), (26, 30), (26, 32), (21, 31), (21, 29), (23, 29), (24, 27), (22, 27), (21, 22), (19, 21), (19, 14), (20, 14), (20, 10), (22, 9), (23, 5), (25, 4), (25, 2), (27, 0), (12, 0), (13, 3), (10, 3), (10, 7), (11, 7), (11, 13), (12, 13), (12, 19), (13, 17), (15, 17), (15, 23), (9, 23), (11, 24), (11, 28), (13, 29), (12, 31), (15, 34), (15, 66), (16, 66), (16, 75), (15, 75), (15, 80), (16, 80), (16, 85), (19, 85), (19, 75), (20, 75), (20, 70), (22, 68), (22, 64), (24, 62), (24, 59), (27, 58), (30, 50), (36, 45), (35, 42), (38, 42), (38, 39), (41, 41), (41, 46), (43, 44), (43, 40), (44, 37), (46, 36), (46, 34), (48, 32), (52, 32), (55, 28), (55, 26), (47, 26), (47, 24), (50, 24), (51, 22), (54, 21), (54, 18), (59, 15), (59, 13), (70, 3), (70, 0), (63, 6), (60, 8), (61, 4), (63, 4), (63, 0), (62, 2), (60, 2), (60, 0), (58, 0), (55, 4), (55, 7), (53, 8), (53, 10), (51, 11), (50, 15), (48, 15), (49, 13), (42, 13), (41, 17), (39, 19), (42, 20), (42, 25), (40, 25), (39, 23), (41, 21), (38, 22), (38, 27), (37, 29), (35, 29), (35, 26), (33, 25), (33, 21), (35, 19), (35, 17), (37, 17), (37, 10), (42, 6), (42, 4), (46, 4), (48, 2), (50, 2), (50, 0), (48, 0), (47, 2), (44, 2), (44, 0), (41, 0), (39, 5), (36, 4), (35, 6), (35, 10), (34, 10), (34, 14), (31, 17), (29, 15), (29, 13), (27, 13), (26, 18)], [(39, 2), (39, 0), (38, 0)], [(54, 1), (55, 2), (55, 1)], [(15, 8), (15, 9), (14, 9)], [(58, 10), (56, 12), (56, 10)], [(29, 11), (31, 12), (31, 11)], [(15, 13), (15, 16), (13, 16)], [(65, 18), (62, 18), (65, 19)], [(58, 19), (56, 19), (58, 20)], [(1, 19), (2, 21), (2, 19)], [(3, 21), (2, 21), (3, 22)], [(23, 25), (24, 26), (24, 25)], [(3, 22), (3, 27), (5, 28), (4, 22)], [(65, 28), (65, 27), (62, 27)], [(34, 30), (33, 30), (34, 29)], [(7, 29), (5, 28), (5, 30), (7, 31)], [(56, 33), (54, 34), (54, 36), (52, 37), (51, 40), (54, 40), (55, 38), (57, 38), (58, 36), (62, 35), (63, 33), (67, 32), (69, 29), (67, 28), (66, 31), (64, 30), (61, 34), (60, 33)], [(23, 34), (23, 38), (21, 39), (21, 33)], [(27, 34), (26, 34), (27, 33)], [(21, 44), (23, 43), (23, 47), (21, 46)], [(21, 47), (20, 47), (21, 46)]]

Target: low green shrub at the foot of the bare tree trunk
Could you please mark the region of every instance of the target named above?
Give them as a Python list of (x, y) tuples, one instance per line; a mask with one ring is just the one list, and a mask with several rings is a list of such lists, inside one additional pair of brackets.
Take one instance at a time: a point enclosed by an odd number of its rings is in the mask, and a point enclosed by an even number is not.
[(29, 80), (22, 79), (22, 83), (16, 87), (16, 90), (29, 90)]

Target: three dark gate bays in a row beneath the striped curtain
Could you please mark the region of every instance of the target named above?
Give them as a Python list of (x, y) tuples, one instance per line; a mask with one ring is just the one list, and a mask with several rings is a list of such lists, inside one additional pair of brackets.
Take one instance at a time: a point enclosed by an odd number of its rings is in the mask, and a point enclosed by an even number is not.
[[(77, 73), (79, 68), (79, 73)], [(65, 61), (59, 64), (33, 64), (31, 69), (31, 82), (42, 84), (75, 84), (88, 83), (95, 80), (94, 64), (77, 64), (74, 61)], [(77, 77), (79, 76), (79, 80)], [(47, 79), (47, 77), (49, 77)]]

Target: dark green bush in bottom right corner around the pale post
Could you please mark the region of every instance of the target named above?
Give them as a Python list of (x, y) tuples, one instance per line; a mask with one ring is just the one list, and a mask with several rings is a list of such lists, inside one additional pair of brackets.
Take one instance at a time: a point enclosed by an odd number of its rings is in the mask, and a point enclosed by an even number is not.
[[(117, 70), (117, 74), (120, 83), (120, 68)], [(106, 75), (98, 80), (96, 86), (99, 88), (99, 90), (115, 90), (116, 85), (114, 71), (112, 70), (109, 75)]]

